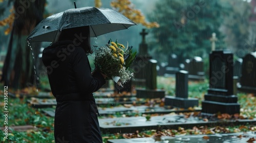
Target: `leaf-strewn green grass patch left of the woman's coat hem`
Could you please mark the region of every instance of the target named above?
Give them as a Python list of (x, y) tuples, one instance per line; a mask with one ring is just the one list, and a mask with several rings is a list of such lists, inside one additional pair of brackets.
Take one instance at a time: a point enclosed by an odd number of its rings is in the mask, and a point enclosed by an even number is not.
[[(3, 95), (1, 102), (4, 101)], [(0, 131), (0, 142), (52, 142), (53, 136), (53, 123), (54, 118), (48, 117), (41, 113), (41, 109), (31, 108), (26, 104), (26, 99), (13, 99), (8, 98), (8, 127), (9, 135), (6, 140), (3, 135), (3, 130)], [(3, 109), (3, 105), (1, 104)], [(4, 112), (0, 113), (1, 123), (4, 123)], [(11, 129), (12, 126), (32, 125), (36, 130), (28, 130), (27, 132), (17, 132)]]

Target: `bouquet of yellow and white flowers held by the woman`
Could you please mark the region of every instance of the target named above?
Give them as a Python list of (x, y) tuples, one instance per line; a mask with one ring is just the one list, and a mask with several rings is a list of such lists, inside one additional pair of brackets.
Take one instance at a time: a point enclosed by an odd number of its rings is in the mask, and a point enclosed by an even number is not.
[(125, 47), (123, 44), (113, 42), (111, 39), (105, 46), (95, 50), (95, 70), (108, 76), (106, 80), (113, 80), (119, 86), (133, 77), (131, 64), (136, 58), (137, 52), (133, 52), (133, 46)]

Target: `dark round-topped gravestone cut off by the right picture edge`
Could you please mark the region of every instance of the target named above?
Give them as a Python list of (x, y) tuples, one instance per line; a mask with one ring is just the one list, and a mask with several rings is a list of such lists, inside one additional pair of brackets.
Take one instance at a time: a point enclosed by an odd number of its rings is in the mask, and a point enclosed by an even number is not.
[(256, 93), (256, 52), (243, 58), (239, 91)]

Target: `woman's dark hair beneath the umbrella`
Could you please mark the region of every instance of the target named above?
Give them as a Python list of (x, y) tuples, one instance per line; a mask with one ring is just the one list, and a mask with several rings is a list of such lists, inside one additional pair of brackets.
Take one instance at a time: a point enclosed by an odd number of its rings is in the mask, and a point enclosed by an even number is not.
[[(87, 38), (84, 39), (84, 37), (87, 37)], [(62, 30), (59, 35), (58, 41), (63, 41), (63, 40), (72, 40), (72, 41), (75, 40), (76, 43), (80, 43), (78, 46), (82, 47), (87, 54), (93, 53), (91, 43), (90, 43), (89, 26)]]

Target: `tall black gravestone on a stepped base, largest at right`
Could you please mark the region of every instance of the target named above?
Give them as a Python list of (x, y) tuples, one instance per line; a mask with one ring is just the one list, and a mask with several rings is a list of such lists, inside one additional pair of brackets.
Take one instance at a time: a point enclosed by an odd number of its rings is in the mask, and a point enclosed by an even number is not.
[(209, 89), (202, 101), (202, 113), (240, 113), (238, 97), (233, 94), (233, 54), (212, 51), (209, 61)]

